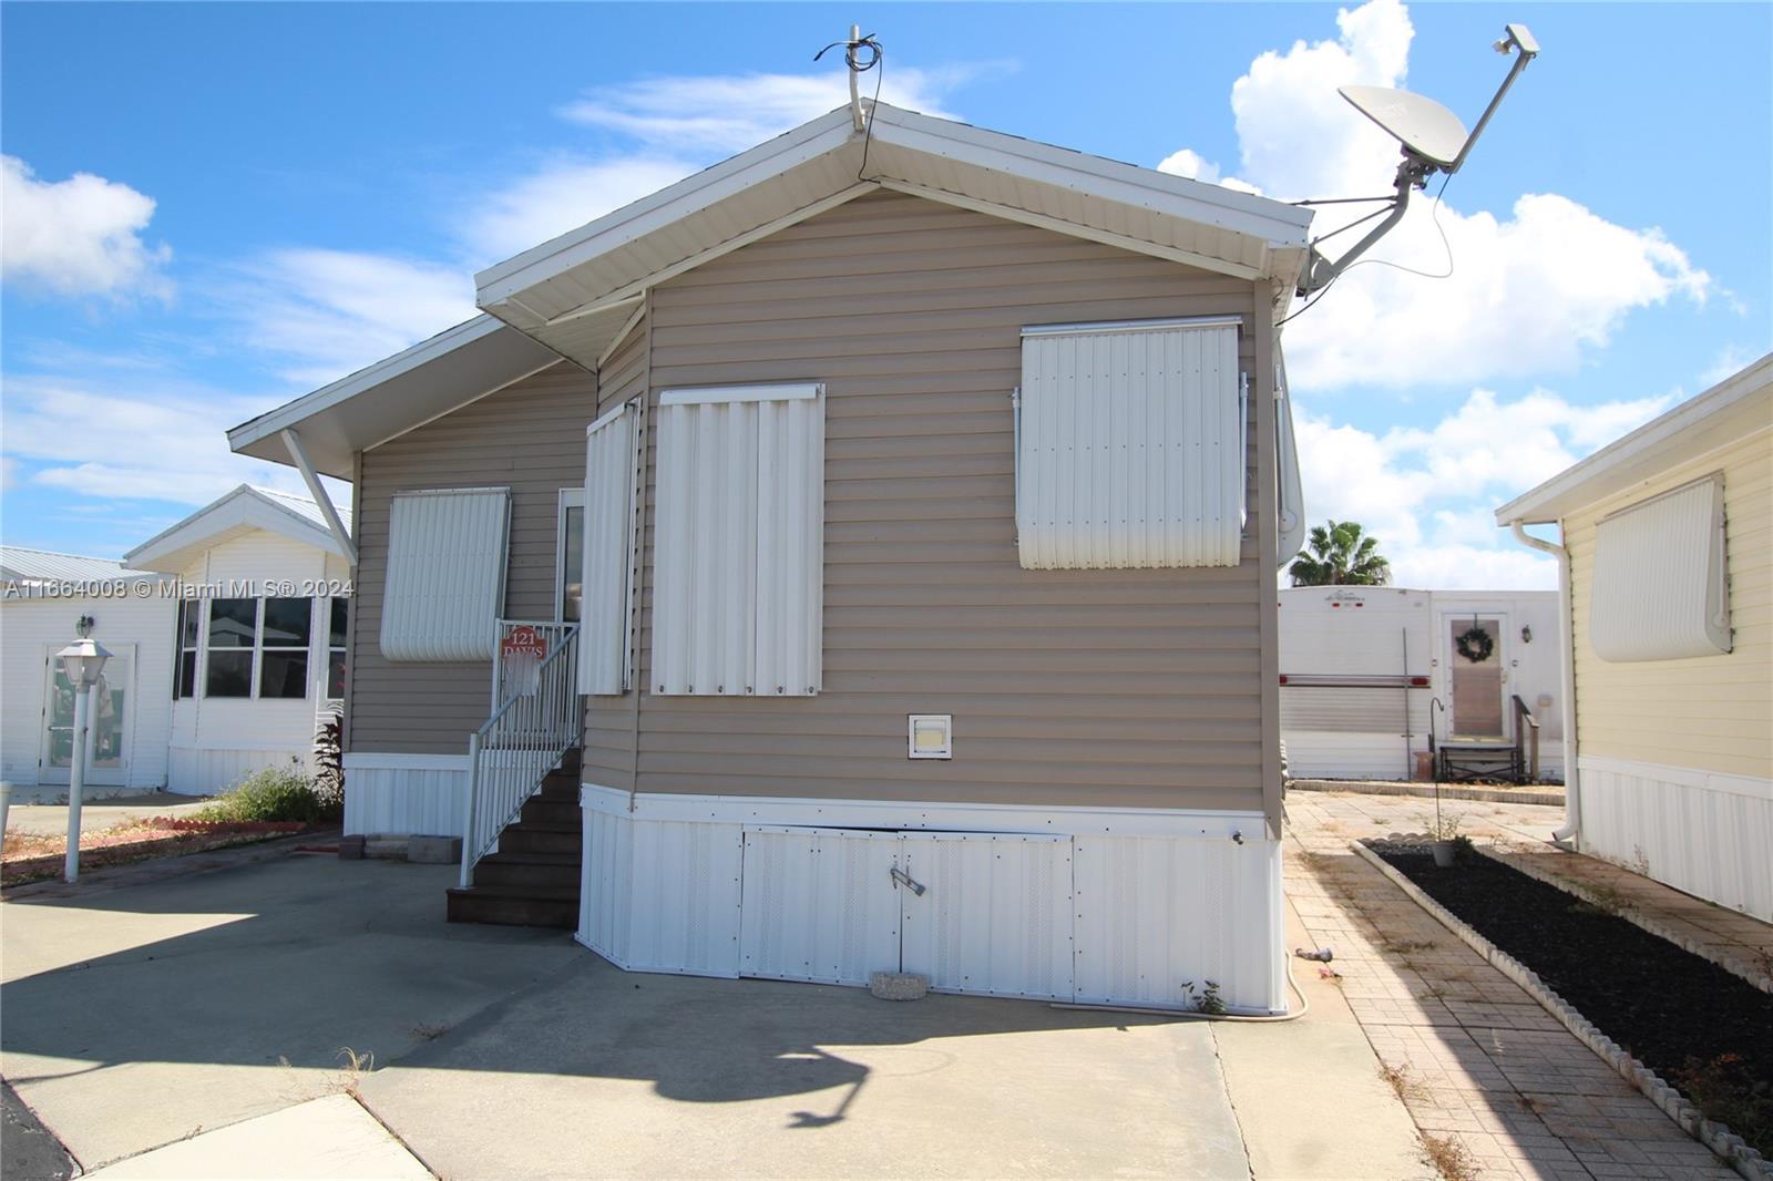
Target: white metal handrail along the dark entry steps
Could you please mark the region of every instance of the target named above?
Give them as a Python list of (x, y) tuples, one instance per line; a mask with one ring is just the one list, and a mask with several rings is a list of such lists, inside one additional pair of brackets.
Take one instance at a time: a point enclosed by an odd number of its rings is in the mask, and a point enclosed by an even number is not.
[(578, 624), (569, 624), (535, 670), (534, 693), (512, 693), (468, 736), (468, 800), (461, 835), (461, 885), (523, 810), (548, 771), (580, 743)]

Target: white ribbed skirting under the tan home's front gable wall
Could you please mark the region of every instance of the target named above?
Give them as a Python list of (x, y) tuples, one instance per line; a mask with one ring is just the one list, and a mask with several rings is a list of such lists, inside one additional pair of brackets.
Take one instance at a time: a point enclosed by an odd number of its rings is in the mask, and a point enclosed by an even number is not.
[(1165, 1009), (1215, 981), (1238, 1013), (1287, 1004), (1280, 846), (1254, 812), (580, 798), (578, 940), (622, 968), (906, 970), (936, 991)]

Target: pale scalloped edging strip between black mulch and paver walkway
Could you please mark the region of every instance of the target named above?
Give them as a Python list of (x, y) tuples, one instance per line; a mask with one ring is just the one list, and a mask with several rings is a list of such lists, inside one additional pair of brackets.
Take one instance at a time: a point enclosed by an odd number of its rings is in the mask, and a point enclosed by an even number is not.
[(1686, 1096), (1668, 1085), (1668, 1082), (1656, 1075), (1656, 1071), (1626, 1053), (1617, 1041), (1597, 1030), (1589, 1018), (1582, 1016), (1582, 1013), (1578, 1013), (1567, 1000), (1551, 991), (1532, 968), (1486, 940), (1472, 929), (1468, 922), (1429, 897), (1422, 887), (1401, 874), (1390, 862), (1367, 848), (1365, 842), (1349, 841), (1349, 849), (1355, 851), (1355, 856), (1360, 856), (1385, 874), (1399, 890), (1415, 901), (1417, 906), (1425, 910), (1436, 922), (1464, 940), (1472, 950), (1488, 959), (1498, 972), (1519, 984), (1528, 997), (1537, 1000), (1546, 1013), (1562, 1021), (1564, 1028), (1574, 1034), (1582, 1044), (1594, 1050), (1594, 1053), (1619, 1071), (1626, 1082), (1642, 1091), (1644, 1098), (1660, 1107), (1661, 1112), (1679, 1124), (1683, 1131), (1716, 1153), (1720, 1160), (1730, 1165), (1730, 1169), (1739, 1172), (1743, 1177), (1748, 1177), (1748, 1181), (1773, 1179), (1773, 1163), (1768, 1163), (1761, 1153), (1750, 1147), (1746, 1140), (1723, 1124), (1706, 1119)]

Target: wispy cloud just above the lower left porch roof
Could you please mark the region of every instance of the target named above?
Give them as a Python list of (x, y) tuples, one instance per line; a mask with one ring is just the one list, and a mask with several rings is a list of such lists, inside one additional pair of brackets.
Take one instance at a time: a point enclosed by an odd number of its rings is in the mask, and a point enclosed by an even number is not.
[(280, 360), (289, 381), (317, 387), (475, 314), (461, 266), (349, 250), (275, 250), (227, 284), (225, 316), (246, 344)]

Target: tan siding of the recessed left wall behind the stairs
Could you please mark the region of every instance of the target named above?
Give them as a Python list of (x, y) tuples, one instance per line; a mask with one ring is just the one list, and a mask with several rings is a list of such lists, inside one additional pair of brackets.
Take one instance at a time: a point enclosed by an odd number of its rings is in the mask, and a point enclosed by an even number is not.
[(466, 754), (468, 734), (486, 722), (491, 704), (489, 663), (390, 663), (381, 656), (394, 493), (511, 488), (505, 617), (553, 619), (558, 498), (562, 488), (583, 482), (596, 388), (590, 374), (562, 362), (362, 454), (353, 752)]

